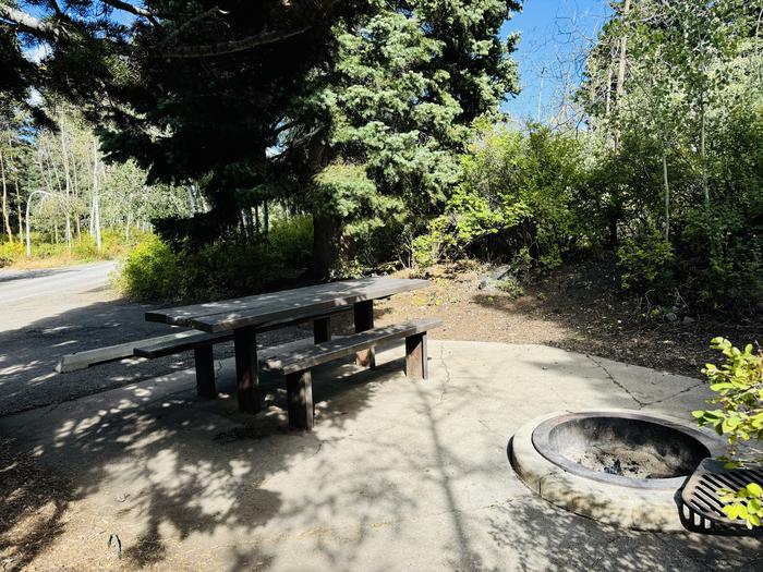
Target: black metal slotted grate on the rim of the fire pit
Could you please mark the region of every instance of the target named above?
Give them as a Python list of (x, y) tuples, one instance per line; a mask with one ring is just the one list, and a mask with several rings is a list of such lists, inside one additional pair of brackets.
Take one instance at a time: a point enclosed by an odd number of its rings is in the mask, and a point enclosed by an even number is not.
[(718, 489), (736, 490), (750, 483), (763, 483), (763, 467), (726, 468), (719, 461), (705, 459), (681, 492), (683, 525), (690, 531), (705, 534), (760, 536), (763, 534), (761, 528), (748, 531), (742, 521), (728, 519), (717, 495)]

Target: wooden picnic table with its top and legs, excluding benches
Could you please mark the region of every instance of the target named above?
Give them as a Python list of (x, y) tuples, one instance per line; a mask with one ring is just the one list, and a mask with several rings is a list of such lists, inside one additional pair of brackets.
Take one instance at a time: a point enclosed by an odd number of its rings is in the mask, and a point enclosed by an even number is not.
[[(355, 332), (374, 328), (374, 301), (426, 288), (428, 281), (363, 278), (270, 292), (220, 302), (207, 302), (146, 313), (149, 321), (186, 326), (209, 333), (233, 332), (239, 409), (262, 407), (256, 331), (264, 326), (313, 321), (315, 343), (330, 339), (328, 315), (352, 308)], [(362, 365), (374, 366), (373, 349), (359, 353)]]

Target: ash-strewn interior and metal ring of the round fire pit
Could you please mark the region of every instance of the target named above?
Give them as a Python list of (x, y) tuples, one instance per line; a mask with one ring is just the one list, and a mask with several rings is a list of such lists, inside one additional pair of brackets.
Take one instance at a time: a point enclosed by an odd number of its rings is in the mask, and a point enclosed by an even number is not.
[(566, 471), (634, 487), (667, 485), (711, 457), (699, 431), (639, 413), (561, 415), (538, 425), (532, 440)]

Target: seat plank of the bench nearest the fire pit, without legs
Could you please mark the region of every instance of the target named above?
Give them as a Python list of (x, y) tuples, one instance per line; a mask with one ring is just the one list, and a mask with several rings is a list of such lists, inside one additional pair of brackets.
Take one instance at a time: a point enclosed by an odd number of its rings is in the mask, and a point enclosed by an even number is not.
[(387, 340), (414, 336), (440, 326), (443, 322), (435, 318), (425, 318), (415, 321), (407, 321), (393, 326), (374, 328), (372, 330), (353, 333), (344, 338), (338, 338), (328, 342), (319, 343), (298, 350), (290, 354), (274, 356), (267, 360), (267, 365), (271, 369), (291, 374), (302, 369), (338, 360), (347, 355), (352, 355), (359, 350), (376, 345)]

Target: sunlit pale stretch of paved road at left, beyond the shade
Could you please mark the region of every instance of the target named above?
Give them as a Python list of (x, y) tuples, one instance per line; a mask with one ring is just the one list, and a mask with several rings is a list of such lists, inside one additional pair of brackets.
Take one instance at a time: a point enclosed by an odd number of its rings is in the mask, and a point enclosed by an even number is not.
[(116, 263), (96, 263), (44, 270), (0, 270), (0, 305), (24, 300), (82, 293), (108, 283)]

